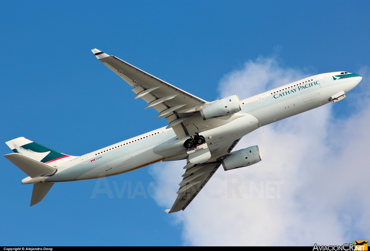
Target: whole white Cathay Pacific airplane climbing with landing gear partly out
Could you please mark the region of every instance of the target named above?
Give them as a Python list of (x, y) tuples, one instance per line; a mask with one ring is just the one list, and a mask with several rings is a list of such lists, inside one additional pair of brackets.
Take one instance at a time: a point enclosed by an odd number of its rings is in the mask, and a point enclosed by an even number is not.
[[(185, 208), (219, 166), (232, 170), (262, 160), (258, 146), (233, 151), (240, 139), (270, 123), (345, 98), (362, 77), (345, 71), (317, 74), (246, 99), (232, 95), (205, 101), (108, 55), (91, 50), (97, 59), (132, 87), (164, 117), (168, 126), (103, 147), (83, 156), (57, 152), (20, 137), (6, 142), (14, 153), (4, 155), (33, 184), (30, 206), (44, 199), (57, 182), (97, 179), (126, 173), (162, 161), (186, 159), (177, 198), (166, 213)], [(248, 87), (246, 87), (248, 88)]]

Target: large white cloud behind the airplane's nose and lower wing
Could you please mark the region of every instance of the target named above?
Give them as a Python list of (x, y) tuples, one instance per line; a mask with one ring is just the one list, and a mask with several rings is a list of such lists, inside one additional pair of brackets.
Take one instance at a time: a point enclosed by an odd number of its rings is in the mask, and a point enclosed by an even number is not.
[[(258, 58), (225, 75), (220, 96), (239, 94), (242, 99), (308, 75), (312, 74), (283, 68), (274, 58)], [(258, 145), (263, 160), (227, 172), (221, 167), (185, 211), (169, 215), (182, 225), (184, 244), (340, 245), (367, 240), (370, 108), (369, 96), (361, 92), (368, 89), (365, 79), (356, 87), (360, 91), (352, 91), (357, 98), (347, 107), (357, 110), (349, 118), (333, 116), (335, 105), (348, 102), (344, 99), (245, 136), (235, 150)], [(159, 205), (170, 208), (174, 203), (184, 165), (179, 161), (150, 169), (155, 179), (171, 184), (157, 187), (156, 194), (164, 194), (157, 199)], [(238, 179), (242, 198), (231, 189)], [(266, 198), (269, 181), (283, 182), (280, 199), (276, 185), (269, 185), (275, 199)], [(263, 198), (250, 190), (253, 185), (259, 190), (261, 182)], [(223, 197), (212, 199), (209, 193)]]

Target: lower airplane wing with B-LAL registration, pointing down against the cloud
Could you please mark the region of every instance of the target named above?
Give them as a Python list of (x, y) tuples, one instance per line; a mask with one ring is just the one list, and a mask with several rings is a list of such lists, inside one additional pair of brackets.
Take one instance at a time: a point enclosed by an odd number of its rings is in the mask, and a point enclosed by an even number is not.
[[(171, 209), (165, 210), (166, 213), (175, 213), (185, 208), (191, 203), (195, 196), (202, 190), (205, 184), (211, 179), (212, 175), (217, 171), (221, 165), (221, 156), (227, 155), (239, 142), (235, 140), (231, 145), (224, 146), (215, 151), (212, 151), (213, 162), (204, 164), (191, 164), (188, 163), (184, 167), (185, 173), (182, 182), (179, 183), (179, 190), (177, 191), (177, 198)], [(217, 157), (217, 159), (216, 159)]]

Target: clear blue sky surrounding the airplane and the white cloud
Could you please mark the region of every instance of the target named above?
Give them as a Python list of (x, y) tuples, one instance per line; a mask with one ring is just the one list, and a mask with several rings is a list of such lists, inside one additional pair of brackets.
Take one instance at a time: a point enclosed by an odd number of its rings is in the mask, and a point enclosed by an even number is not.
[[(69, 155), (167, 124), (155, 119), (154, 109), (144, 110), (144, 101), (134, 100), (131, 88), (94, 57), (93, 48), (208, 101), (222, 95), (223, 76), (259, 56), (303, 74), (358, 73), (369, 65), (366, 1), (3, 1), (0, 6), (0, 142), (24, 136)], [(333, 118), (346, 121), (354, 102), (350, 95), (339, 102)], [(0, 151), (11, 152), (5, 143)], [(29, 207), (32, 187), (20, 184), (26, 175), (4, 157), (0, 164), (1, 244), (199, 244), (189, 242), (183, 223), (150, 196), (118, 199), (113, 182), (121, 188), (131, 181), (132, 191), (142, 183), (146, 189), (155, 180), (148, 172), (154, 167), (108, 178), (114, 199), (107, 194), (91, 199), (96, 180), (89, 180), (55, 184), (41, 203)]]

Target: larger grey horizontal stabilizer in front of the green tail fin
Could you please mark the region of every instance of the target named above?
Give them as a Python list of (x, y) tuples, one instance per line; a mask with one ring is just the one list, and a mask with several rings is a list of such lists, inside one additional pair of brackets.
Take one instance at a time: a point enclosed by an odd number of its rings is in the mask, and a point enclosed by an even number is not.
[(38, 162), (37, 160), (30, 159), (20, 153), (10, 153), (4, 155), (4, 157), (10, 160), (11, 163), (15, 164), (31, 178), (39, 177), (55, 171), (54, 167)]

